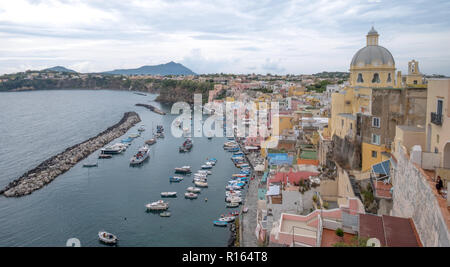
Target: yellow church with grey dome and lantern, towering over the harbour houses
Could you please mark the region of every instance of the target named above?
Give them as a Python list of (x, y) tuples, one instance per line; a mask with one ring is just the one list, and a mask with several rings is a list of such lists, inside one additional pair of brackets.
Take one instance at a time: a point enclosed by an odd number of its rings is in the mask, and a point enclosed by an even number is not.
[[(373, 27), (366, 38), (366, 46), (350, 63), (350, 86), (332, 94), (329, 124), (331, 135), (338, 138), (337, 161), (362, 171), (388, 159), (395, 126), (405, 122), (409, 111), (407, 104), (402, 106), (409, 96), (401, 73), (395, 75), (394, 57), (378, 44)], [(422, 80), (418, 62), (411, 61), (406, 84), (422, 85)]]

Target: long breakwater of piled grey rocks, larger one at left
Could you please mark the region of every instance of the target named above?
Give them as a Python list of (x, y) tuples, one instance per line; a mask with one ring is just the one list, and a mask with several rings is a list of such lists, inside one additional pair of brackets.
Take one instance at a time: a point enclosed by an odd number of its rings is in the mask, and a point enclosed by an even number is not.
[(21, 197), (31, 194), (33, 191), (44, 187), (56, 177), (68, 171), (93, 152), (124, 135), (140, 121), (141, 118), (139, 118), (136, 112), (126, 112), (123, 118), (115, 125), (99, 133), (97, 136), (71, 146), (62, 153), (45, 160), (36, 168), (9, 183), (0, 191), (0, 194), (6, 197)]

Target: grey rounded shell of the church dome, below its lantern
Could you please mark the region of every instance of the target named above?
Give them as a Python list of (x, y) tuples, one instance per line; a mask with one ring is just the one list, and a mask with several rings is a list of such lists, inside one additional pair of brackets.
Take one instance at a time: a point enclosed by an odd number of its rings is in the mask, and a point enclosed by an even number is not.
[(353, 56), (352, 67), (365, 67), (365, 66), (395, 66), (394, 57), (391, 52), (386, 48), (379, 45), (368, 45), (361, 48)]

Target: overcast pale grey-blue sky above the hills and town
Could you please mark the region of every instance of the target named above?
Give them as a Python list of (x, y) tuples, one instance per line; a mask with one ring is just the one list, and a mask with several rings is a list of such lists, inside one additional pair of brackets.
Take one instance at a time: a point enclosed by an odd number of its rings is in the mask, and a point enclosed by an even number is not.
[(182, 63), (196, 73), (348, 71), (372, 27), (407, 71), (450, 75), (450, 1), (0, 1), (0, 73)]

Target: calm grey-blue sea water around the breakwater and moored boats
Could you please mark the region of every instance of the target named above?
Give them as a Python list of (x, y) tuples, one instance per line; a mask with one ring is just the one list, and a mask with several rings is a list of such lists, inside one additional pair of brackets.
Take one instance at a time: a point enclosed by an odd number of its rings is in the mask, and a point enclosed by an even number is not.
[[(82, 246), (102, 246), (99, 230), (116, 234), (119, 246), (226, 246), (229, 230), (212, 224), (230, 211), (225, 208), (225, 185), (238, 171), (222, 149), (225, 139), (193, 138), (192, 151), (179, 153), (184, 139), (170, 133), (176, 115), (160, 116), (134, 106), (150, 103), (170, 112), (170, 107), (153, 102), (155, 98), (109, 90), (0, 93), (1, 187), (66, 147), (97, 135), (126, 111), (136, 111), (142, 122), (117, 141), (137, 133), (142, 124), (147, 129), (125, 153), (98, 160), (97, 168), (82, 167), (97, 161), (96, 152), (31, 195), (0, 196), (0, 246), (65, 246), (72, 237)], [(144, 165), (132, 168), (129, 160), (151, 138), (152, 123), (155, 130), (157, 124), (164, 125), (166, 137), (150, 147)], [(196, 171), (207, 157), (218, 160), (208, 177), (209, 188), (198, 199), (187, 200), (184, 192), (193, 186), (192, 178), (171, 184), (169, 176), (183, 165)], [(178, 192), (178, 198), (168, 199), (169, 218), (145, 209), (145, 204), (161, 199), (162, 191)]]

